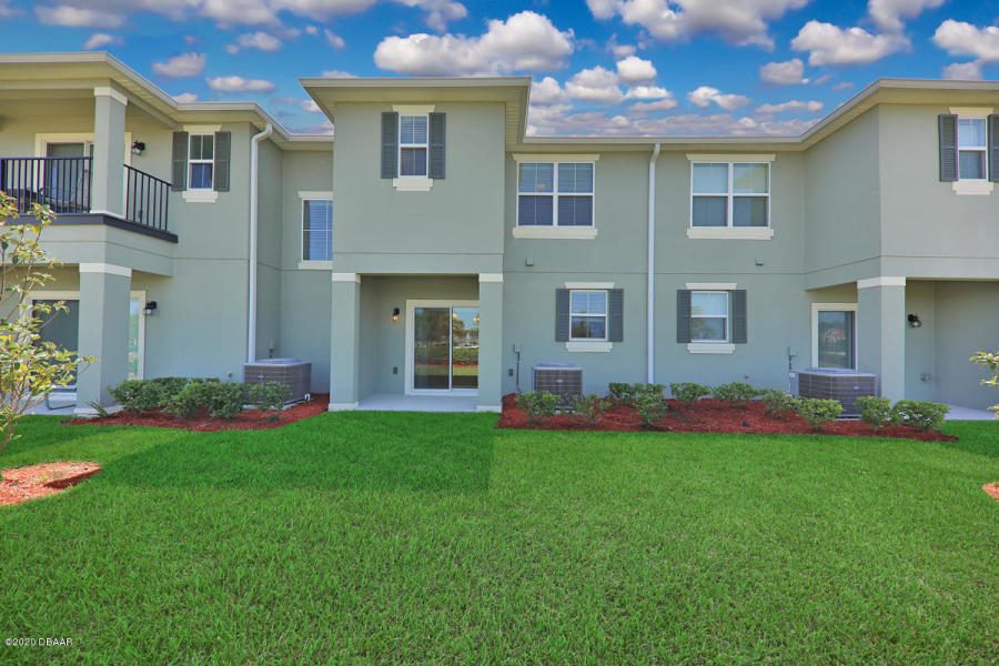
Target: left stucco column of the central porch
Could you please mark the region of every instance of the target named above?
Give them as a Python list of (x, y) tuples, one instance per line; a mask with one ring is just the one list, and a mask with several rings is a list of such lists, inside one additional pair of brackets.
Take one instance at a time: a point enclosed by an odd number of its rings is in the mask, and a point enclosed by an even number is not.
[(330, 411), (356, 410), (361, 401), (361, 276), (333, 273)]

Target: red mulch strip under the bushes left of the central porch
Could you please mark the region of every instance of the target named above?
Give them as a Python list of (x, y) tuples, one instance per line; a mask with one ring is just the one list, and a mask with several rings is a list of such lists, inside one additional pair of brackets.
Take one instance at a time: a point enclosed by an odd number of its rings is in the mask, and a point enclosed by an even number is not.
[(233, 418), (212, 418), (208, 414), (201, 414), (193, 418), (181, 418), (163, 412), (118, 412), (103, 418), (73, 418), (67, 423), (71, 425), (148, 425), (152, 427), (175, 427), (181, 430), (213, 432), (223, 430), (268, 430), (281, 427), (289, 423), (295, 423), (303, 418), (317, 416), (326, 411), (330, 405), (330, 396), (316, 394), (306, 403), (299, 403), (283, 410), (273, 418), (273, 412), (260, 410), (246, 410)]

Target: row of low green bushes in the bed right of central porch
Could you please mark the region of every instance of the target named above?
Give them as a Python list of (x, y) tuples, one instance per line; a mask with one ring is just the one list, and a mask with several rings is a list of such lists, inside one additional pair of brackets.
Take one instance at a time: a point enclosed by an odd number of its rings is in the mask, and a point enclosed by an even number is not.
[[(585, 418), (594, 425), (614, 405), (634, 408), (645, 427), (652, 427), (665, 415), (668, 404), (663, 394), (665, 384), (628, 384), (615, 382), (607, 387), (607, 397), (596, 394), (563, 398), (545, 391), (531, 391), (517, 396), (517, 406), (527, 413), (532, 423), (562, 412)], [(779, 418), (781, 414), (797, 413), (815, 430), (831, 423), (842, 415), (842, 404), (836, 400), (799, 397), (776, 389), (756, 389), (745, 382), (729, 382), (715, 387), (692, 382), (669, 384), (669, 392), (680, 404), (689, 407), (695, 402), (713, 397), (736, 408), (745, 408), (750, 401), (759, 401), (766, 406), (768, 416)], [(939, 403), (899, 401), (891, 405), (888, 398), (866, 396), (857, 402), (861, 420), (874, 427), (886, 425), (908, 425), (920, 430), (939, 430), (948, 407)]]

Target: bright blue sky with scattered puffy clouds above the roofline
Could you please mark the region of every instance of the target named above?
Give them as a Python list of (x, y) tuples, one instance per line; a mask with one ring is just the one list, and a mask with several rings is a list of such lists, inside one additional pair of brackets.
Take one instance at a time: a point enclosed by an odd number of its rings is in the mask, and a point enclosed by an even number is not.
[(999, 77), (999, 0), (0, 0), (3, 50), (330, 131), (300, 77), (531, 75), (535, 134), (797, 134), (879, 77)]

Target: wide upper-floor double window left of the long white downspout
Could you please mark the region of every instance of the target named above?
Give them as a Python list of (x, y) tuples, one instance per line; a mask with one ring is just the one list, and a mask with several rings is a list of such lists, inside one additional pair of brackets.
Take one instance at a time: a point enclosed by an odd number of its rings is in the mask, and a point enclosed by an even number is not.
[(593, 226), (594, 162), (519, 162), (517, 226)]

